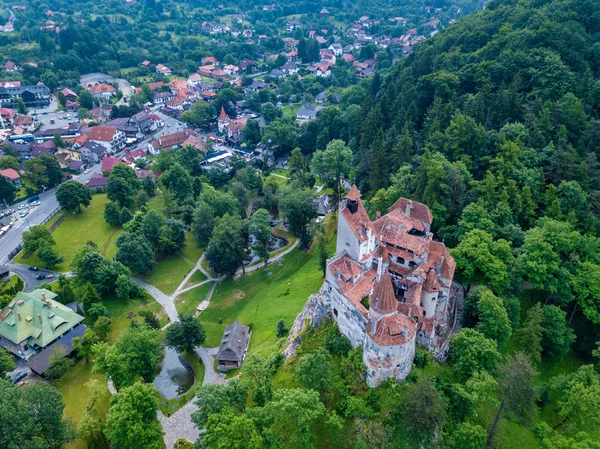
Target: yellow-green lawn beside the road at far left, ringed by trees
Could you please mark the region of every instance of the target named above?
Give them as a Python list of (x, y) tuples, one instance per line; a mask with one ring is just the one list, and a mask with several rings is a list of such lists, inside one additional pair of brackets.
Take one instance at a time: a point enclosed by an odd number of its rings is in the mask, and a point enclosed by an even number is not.
[[(68, 214), (67, 218), (54, 230), (52, 233), (52, 237), (56, 241), (54, 249), (65, 260), (60, 265), (53, 267), (53, 270), (70, 271), (73, 256), (89, 240), (98, 245), (100, 252), (105, 257), (113, 258), (115, 256), (117, 253), (115, 239), (120, 229), (104, 221), (104, 205), (106, 203), (108, 203), (108, 199), (105, 194), (94, 195), (89, 207), (83, 209), (80, 214)], [(59, 216), (60, 214), (50, 220), (46, 226), (50, 227), (58, 220)], [(23, 252), (19, 253), (15, 262), (24, 265), (44, 266), (35, 254), (24, 259)]]

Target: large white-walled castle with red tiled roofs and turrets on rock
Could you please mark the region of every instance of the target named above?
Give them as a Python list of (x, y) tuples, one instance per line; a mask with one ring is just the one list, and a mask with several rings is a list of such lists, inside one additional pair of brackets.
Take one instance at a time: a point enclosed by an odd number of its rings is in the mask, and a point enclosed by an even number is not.
[(340, 205), (319, 301), (362, 347), (367, 384), (376, 387), (408, 376), (416, 344), (436, 354), (444, 343), (456, 264), (433, 240), (426, 205), (400, 198), (371, 221), (360, 197), (352, 186)]

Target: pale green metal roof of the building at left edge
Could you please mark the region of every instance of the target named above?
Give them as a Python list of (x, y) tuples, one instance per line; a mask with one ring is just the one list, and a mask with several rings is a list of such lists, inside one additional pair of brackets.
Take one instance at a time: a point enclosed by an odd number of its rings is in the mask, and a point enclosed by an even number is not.
[(56, 294), (39, 289), (17, 296), (0, 310), (0, 345), (23, 356), (44, 348), (83, 321), (83, 317), (54, 301)]

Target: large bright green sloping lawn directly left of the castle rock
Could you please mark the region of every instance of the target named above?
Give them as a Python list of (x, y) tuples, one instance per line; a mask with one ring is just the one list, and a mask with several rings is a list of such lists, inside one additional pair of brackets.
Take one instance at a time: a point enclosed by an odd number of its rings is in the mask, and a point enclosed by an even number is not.
[[(331, 232), (330, 232), (331, 233)], [(335, 239), (330, 239), (333, 253)], [(270, 274), (270, 275), (269, 275)], [(208, 308), (200, 314), (206, 329), (207, 347), (216, 347), (225, 326), (237, 320), (252, 325), (250, 350), (270, 354), (278, 349), (277, 321), (292, 325), (308, 297), (323, 284), (314, 249), (295, 249), (275, 262), (237, 280), (228, 278), (217, 285)]]

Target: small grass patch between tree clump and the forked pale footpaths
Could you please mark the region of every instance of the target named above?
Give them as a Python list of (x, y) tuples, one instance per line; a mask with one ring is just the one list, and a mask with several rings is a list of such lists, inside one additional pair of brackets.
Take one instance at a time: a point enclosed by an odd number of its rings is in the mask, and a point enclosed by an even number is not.
[(196, 248), (191, 233), (188, 233), (185, 239), (186, 244), (182, 254), (159, 261), (156, 268), (143, 277), (144, 281), (154, 285), (167, 295), (177, 290), (188, 272), (196, 266), (196, 262), (204, 251)]

